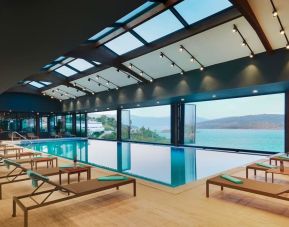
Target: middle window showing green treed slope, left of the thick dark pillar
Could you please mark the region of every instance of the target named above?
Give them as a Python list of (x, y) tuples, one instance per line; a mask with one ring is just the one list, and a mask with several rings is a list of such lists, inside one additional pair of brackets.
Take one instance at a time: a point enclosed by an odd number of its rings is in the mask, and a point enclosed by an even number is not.
[(122, 139), (150, 143), (170, 143), (170, 106), (123, 110)]

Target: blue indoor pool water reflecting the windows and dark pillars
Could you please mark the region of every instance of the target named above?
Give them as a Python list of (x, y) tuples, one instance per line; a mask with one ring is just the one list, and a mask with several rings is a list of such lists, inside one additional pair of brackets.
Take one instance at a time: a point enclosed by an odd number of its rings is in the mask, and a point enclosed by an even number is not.
[(22, 144), (31, 149), (177, 187), (263, 156), (99, 140), (47, 140)]

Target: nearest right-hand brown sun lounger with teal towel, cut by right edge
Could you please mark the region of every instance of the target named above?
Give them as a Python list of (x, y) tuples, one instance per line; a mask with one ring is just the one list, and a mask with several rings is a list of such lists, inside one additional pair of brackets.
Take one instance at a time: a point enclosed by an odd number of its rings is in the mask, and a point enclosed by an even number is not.
[(216, 176), (208, 179), (206, 182), (206, 196), (209, 197), (210, 185), (217, 185), (221, 187), (221, 190), (223, 190), (223, 188), (231, 188), (239, 191), (250, 192), (258, 195), (289, 201), (289, 197), (286, 197), (286, 194), (289, 193), (288, 185), (260, 182), (241, 177), (233, 178), (241, 180), (242, 183), (236, 184), (230, 180), (222, 178), (222, 176)]

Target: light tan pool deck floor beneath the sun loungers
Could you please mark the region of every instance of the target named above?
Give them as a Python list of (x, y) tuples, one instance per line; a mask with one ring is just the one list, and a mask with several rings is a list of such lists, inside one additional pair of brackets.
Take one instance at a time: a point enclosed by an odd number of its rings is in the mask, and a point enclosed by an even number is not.
[[(61, 164), (67, 163), (59, 158)], [(7, 170), (0, 169), (0, 175)], [(245, 176), (245, 168), (229, 171)], [(92, 178), (110, 174), (92, 168)], [(252, 177), (253, 171), (250, 172)], [(72, 180), (76, 181), (76, 175)], [(82, 175), (85, 179), (86, 175)], [(52, 177), (57, 181), (57, 177)], [(259, 174), (258, 180), (264, 180)], [(65, 184), (67, 178), (63, 176)], [(288, 184), (289, 177), (276, 175), (276, 183)], [(0, 226), (23, 226), (18, 209), (12, 218), (12, 196), (31, 192), (31, 182), (5, 185), (0, 201)], [(57, 196), (57, 195), (56, 195)], [(289, 203), (263, 196), (212, 187), (205, 196), (205, 179), (178, 188), (137, 179), (137, 196), (131, 186), (76, 198), (29, 212), (29, 226), (288, 226)]]

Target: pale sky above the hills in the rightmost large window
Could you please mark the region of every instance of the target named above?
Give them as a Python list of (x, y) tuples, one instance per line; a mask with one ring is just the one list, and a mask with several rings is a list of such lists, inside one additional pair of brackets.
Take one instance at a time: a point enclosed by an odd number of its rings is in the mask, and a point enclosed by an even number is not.
[(196, 102), (197, 116), (217, 119), (257, 114), (284, 114), (284, 94)]

